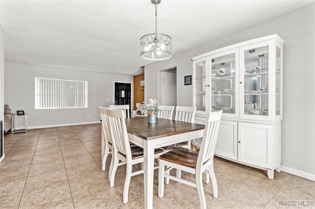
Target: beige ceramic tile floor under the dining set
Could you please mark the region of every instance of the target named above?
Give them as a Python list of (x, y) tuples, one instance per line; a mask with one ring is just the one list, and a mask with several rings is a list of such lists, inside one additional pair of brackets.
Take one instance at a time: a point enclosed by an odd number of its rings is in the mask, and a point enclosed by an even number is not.
[[(103, 172), (100, 134), (100, 124), (7, 133), (0, 162), (0, 208), (144, 208), (142, 175), (131, 178), (127, 204), (122, 203), (126, 166), (118, 168), (115, 186), (109, 187), (110, 157)], [(313, 181), (284, 172), (269, 180), (266, 171), (219, 157), (214, 165), (219, 198), (213, 198), (211, 183), (204, 184), (209, 209), (285, 208), (279, 201), (315, 201)], [(177, 182), (165, 185), (164, 197), (158, 198), (157, 174), (154, 208), (200, 208), (196, 189)]]

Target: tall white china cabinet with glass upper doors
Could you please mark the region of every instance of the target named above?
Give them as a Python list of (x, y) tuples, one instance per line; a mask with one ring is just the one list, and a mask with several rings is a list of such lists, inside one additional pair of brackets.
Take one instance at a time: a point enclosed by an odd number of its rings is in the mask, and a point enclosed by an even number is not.
[(284, 40), (277, 34), (193, 57), (196, 110), (223, 110), (215, 154), (280, 172)]

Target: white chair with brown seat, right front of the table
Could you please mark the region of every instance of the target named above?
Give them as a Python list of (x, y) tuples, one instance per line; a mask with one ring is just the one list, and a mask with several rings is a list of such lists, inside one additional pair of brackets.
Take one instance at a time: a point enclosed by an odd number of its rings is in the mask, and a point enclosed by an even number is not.
[[(203, 190), (202, 174), (207, 173), (211, 178), (213, 196), (218, 198), (218, 184), (214, 173), (213, 158), (218, 139), (221, 115), (222, 110), (208, 113), (199, 152), (183, 147), (176, 147), (159, 157), (158, 197), (163, 197), (163, 179), (172, 179), (176, 182), (196, 187), (200, 200), (200, 208), (205, 209), (206, 199)], [(166, 170), (165, 166), (167, 166)], [(173, 168), (194, 174), (195, 182), (169, 175), (169, 171)]]

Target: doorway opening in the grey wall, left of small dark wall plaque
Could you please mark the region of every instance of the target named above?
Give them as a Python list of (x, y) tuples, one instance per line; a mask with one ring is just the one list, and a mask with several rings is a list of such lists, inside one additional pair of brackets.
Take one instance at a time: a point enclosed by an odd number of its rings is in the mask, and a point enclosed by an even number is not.
[(176, 106), (176, 98), (177, 98), (177, 70), (175, 68), (171, 68), (168, 70), (162, 71), (162, 105), (174, 105)]

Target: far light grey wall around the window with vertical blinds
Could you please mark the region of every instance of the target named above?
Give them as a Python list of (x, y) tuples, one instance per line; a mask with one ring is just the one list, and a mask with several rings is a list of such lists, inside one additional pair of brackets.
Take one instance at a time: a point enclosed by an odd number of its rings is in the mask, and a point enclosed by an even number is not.
[[(4, 102), (9, 104), (13, 113), (24, 110), (28, 114), (28, 128), (99, 122), (98, 107), (114, 104), (114, 81), (133, 83), (133, 76), (7, 62), (4, 67)], [(88, 108), (35, 109), (35, 77), (88, 81)], [(105, 101), (105, 98), (110, 101)], [(90, 118), (87, 117), (88, 114)]]

